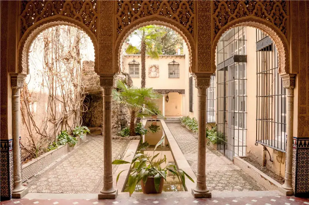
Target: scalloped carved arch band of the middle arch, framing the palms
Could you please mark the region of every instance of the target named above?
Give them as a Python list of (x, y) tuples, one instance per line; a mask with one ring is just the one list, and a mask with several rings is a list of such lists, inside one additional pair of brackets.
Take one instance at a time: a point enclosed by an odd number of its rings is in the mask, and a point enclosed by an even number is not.
[(121, 54), (121, 48), (123, 43), (125, 42), (125, 39), (136, 29), (147, 26), (147, 25), (161, 25), (166, 26), (174, 31), (176, 31), (178, 34), (181, 35), (181, 37), (184, 39), (184, 41), (187, 44), (188, 47), (188, 53), (189, 53), (189, 72), (196, 71), (196, 64), (195, 64), (195, 41), (192, 37), (192, 35), (188, 32), (188, 30), (183, 27), (180, 23), (171, 20), (170, 18), (166, 18), (159, 15), (151, 15), (143, 18), (139, 18), (135, 20), (134, 22), (130, 23), (125, 29), (121, 31), (119, 34), (116, 42), (115, 42), (115, 69), (114, 71), (116, 73), (120, 72), (120, 54)]

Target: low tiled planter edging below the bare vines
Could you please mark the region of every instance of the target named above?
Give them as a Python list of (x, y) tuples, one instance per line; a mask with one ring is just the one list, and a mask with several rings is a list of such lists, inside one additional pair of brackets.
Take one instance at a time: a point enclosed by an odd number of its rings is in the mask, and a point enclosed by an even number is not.
[(77, 146), (85, 142), (87, 139), (87, 135), (84, 135), (84, 139), (80, 139), (78, 137), (78, 142), (74, 147), (69, 147), (69, 144), (60, 145), (55, 150), (50, 150), (38, 158), (32, 159), (30, 162), (22, 165), (22, 182), (26, 181), (28, 178), (38, 174), (45, 167), (49, 166), (53, 162), (55, 162), (59, 157), (64, 154), (69, 153), (74, 150)]

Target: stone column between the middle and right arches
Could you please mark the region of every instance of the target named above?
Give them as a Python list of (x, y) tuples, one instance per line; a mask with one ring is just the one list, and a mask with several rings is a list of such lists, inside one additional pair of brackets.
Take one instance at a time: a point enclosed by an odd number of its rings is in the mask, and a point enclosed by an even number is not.
[(211, 193), (206, 186), (206, 92), (210, 86), (210, 75), (194, 76), (195, 87), (198, 89), (198, 135), (197, 135), (197, 181), (196, 187), (192, 189), (195, 198), (210, 198)]

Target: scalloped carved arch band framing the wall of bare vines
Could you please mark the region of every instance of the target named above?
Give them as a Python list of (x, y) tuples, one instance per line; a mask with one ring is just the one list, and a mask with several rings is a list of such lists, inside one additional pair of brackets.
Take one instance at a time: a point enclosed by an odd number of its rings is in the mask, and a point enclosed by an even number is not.
[(77, 27), (78, 29), (84, 31), (91, 39), (91, 42), (94, 47), (94, 56), (95, 56), (95, 70), (97, 63), (97, 53), (98, 53), (98, 41), (92, 31), (83, 23), (73, 18), (68, 18), (66, 16), (55, 15), (53, 17), (48, 17), (40, 20), (39, 22), (34, 23), (31, 27), (22, 36), (18, 44), (18, 61), (17, 69), (18, 73), (29, 74), (29, 50), (32, 45), (33, 40), (39, 35), (42, 31), (58, 26), (58, 25), (67, 25)]

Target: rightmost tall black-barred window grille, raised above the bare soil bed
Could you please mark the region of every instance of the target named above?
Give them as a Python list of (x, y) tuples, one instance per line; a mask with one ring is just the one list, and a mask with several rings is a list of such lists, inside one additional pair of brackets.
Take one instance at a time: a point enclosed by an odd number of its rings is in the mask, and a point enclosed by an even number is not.
[(278, 74), (277, 48), (256, 30), (256, 143), (285, 152), (286, 90)]

